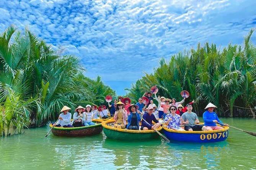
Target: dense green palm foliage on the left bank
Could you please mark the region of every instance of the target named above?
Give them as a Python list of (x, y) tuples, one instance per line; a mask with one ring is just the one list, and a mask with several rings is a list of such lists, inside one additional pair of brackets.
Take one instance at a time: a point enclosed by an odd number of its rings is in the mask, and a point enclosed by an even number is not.
[[(85, 77), (79, 58), (64, 55), (38, 38), (28, 27), (24, 34), (11, 25), (0, 34), (0, 134), (10, 125), (39, 127), (55, 119), (64, 105), (99, 105), (115, 91)], [(7, 132), (9, 133), (9, 132)]]

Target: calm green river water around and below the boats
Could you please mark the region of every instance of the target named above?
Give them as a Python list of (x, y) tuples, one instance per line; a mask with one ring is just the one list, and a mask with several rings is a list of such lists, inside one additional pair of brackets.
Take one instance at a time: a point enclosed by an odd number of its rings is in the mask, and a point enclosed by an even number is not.
[[(202, 118), (201, 118), (202, 120)], [(256, 132), (256, 120), (221, 119), (233, 127)], [(167, 143), (115, 141), (99, 135), (67, 138), (49, 127), (0, 138), (0, 170), (78, 169), (226, 169), (256, 170), (256, 136), (230, 128), (227, 141)]]

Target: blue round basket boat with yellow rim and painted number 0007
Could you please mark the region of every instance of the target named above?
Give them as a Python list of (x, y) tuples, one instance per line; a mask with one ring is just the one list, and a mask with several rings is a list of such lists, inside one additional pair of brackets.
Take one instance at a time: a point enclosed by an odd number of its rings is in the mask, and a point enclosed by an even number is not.
[(171, 141), (210, 143), (225, 141), (228, 138), (229, 127), (210, 131), (178, 131), (163, 126), (165, 136)]

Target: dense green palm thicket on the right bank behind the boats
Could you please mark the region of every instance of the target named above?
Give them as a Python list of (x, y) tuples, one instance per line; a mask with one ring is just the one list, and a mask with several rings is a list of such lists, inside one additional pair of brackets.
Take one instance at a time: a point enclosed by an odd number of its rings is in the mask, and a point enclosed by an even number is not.
[(256, 47), (250, 40), (253, 32), (251, 29), (243, 45), (229, 44), (218, 50), (214, 44), (205, 43), (202, 47), (199, 43), (197, 49), (173, 55), (170, 61), (161, 58), (153, 74), (145, 73), (132, 88), (125, 89), (127, 96), (137, 101), (157, 85), (158, 95), (181, 101), (180, 92), (187, 90), (190, 97), (185, 103), (194, 99), (194, 109), (200, 115), (211, 102), (218, 107), (219, 115), (233, 117), (235, 113), (255, 118)]

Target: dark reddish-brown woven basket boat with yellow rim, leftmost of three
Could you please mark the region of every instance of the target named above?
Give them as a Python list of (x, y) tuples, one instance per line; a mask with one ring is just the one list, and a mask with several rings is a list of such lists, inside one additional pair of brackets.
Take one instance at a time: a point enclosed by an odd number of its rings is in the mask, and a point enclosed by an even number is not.
[[(83, 127), (73, 127), (73, 128), (64, 128), (64, 127), (53, 127), (52, 134), (54, 136), (67, 136), (67, 137), (78, 137), (78, 136), (91, 136), (96, 135), (102, 132), (101, 123), (102, 120), (93, 119), (92, 122), (96, 123), (91, 126)], [(52, 124), (49, 125), (52, 127)]]

